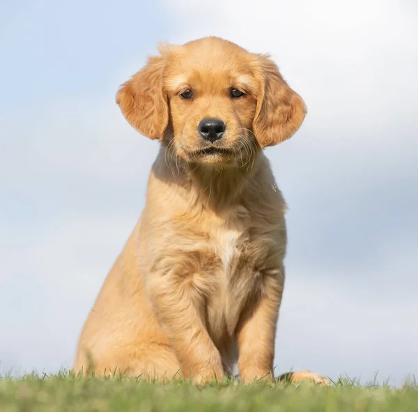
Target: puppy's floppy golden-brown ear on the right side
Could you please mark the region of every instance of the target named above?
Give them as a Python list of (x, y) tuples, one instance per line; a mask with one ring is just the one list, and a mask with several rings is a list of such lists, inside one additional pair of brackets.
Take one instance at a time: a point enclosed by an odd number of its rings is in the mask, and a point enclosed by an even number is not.
[(261, 148), (292, 137), (307, 114), (302, 98), (284, 81), (277, 66), (258, 55), (259, 92), (253, 129)]

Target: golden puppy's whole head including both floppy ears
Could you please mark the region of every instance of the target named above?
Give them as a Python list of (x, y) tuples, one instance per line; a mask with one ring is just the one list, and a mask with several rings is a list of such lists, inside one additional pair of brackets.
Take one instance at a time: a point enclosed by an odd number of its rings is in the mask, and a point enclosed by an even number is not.
[(268, 56), (213, 37), (161, 46), (116, 100), (142, 135), (171, 142), (187, 162), (222, 167), (288, 139), (307, 112)]

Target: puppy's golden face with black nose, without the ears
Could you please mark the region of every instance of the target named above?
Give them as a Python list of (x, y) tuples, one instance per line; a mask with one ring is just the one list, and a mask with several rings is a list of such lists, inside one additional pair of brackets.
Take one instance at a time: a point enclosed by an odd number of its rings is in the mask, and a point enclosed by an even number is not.
[(250, 64), (249, 53), (226, 42), (198, 41), (171, 50), (163, 85), (180, 157), (211, 165), (245, 164), (255, 142), (258, 95)]

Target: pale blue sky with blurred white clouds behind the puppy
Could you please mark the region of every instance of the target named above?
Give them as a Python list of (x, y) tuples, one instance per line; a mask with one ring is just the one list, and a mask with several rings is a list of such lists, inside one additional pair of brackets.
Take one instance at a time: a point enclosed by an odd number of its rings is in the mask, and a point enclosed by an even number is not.
[(288, 202), (277, 373), (418, 374), (415, 0), (0, 2), (0, 374), (71, 367), (157, 142), (114, 102), (160, 41), (269, 52), (307, 102), (268, 148)]

